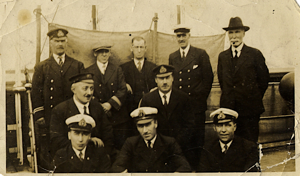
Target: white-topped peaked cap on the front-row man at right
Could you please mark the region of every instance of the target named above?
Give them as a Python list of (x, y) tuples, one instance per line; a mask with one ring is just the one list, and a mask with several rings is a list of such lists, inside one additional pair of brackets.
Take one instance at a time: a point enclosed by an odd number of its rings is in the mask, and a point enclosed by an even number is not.
[(231, 109), (219, 108), (212, 112), (209, 117), (214, 117), (214, 124), (228, 123), (238, 118), (238, 113)]

